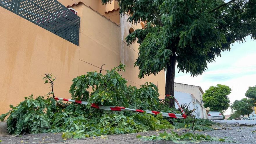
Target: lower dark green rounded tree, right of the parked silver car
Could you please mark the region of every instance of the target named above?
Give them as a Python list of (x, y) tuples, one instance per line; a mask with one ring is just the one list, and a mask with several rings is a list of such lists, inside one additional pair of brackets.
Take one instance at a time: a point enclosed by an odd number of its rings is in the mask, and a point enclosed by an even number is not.
[(253, 112), (253, 100), (247, 98), (243, 98), (240, 101), (235, 100), (230, 107), (233, 111), (237, 111), (237, 113), (240, 115), (247, 115), (249, 117), (249, 114)]

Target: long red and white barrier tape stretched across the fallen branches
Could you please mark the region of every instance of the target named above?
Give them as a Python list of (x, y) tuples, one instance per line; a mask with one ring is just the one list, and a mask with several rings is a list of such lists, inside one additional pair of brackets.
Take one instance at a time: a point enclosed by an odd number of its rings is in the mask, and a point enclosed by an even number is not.
[[(88, 102), (81, 101), (81, 100), (63, 99), (63, 98), (59, 98), (59, 97), (55, 97), (54, 99), (60, 100), (60, 101), (75, 102), (78, 104), (85, 104), (85, 105), (88, 104)], [(159, 112), (159, 111), (129, 109), (129, 108), (124, 108), (124, 107), (120, 107), (120, 106), (98, 106), (97, 104), (91, 104), (91, 107), (94, 107), (96, 109), (110, 110), (110, 111), (136, 111), (136, 112), (140, 112), (140, 113), (143, 113), (145, 111), (146, 113), (155, 114), (155, 115), (160, 113), (161, 115), (163, 115), (165, 117), (171, 117), (171, 118), (186, 118), (187, 117), (185, 114), (181, 115), (181, 114), (175, 114), (175, 113), (163, 113), (163, 112)]]

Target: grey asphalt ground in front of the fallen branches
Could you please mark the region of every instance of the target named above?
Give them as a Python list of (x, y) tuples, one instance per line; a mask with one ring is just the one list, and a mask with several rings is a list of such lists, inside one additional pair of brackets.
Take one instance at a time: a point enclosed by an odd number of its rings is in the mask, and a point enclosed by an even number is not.
[[(235, 126), (235, 125), (219, 125), (215, 126), (214, 131), (195, 131), (195, 133), (210, 135), (214, 137), (228, 137), (229, 140), (236, 141), (236, 143), (244, 144), (255, 144), (256, 143), (256, 133), (253, 131), (256, 130), (255, 126)], [(186, 131), (186, 129), (174, 129), (178, 133)], [(63, 139), (61, 138), (62, 133), (43, 133), (43, 134), (28, 134), (22, 136), (0, 136), (1, 144), (84, 144), (84, 143), (93, 143), (93, 144), (109, 144), (109, 143), (120, 143), (120, 144), (173, 144), (172, 141), (144, 141), (136, 138), (138, 134), (142, 136), (158, 135), (159, 132), (163, 131), (148, 131), (135, 134), (121, 134), (121, 135), (107, 135), (107, 136), (98, 136), (90, 137), (85, 139)], [(167, 130), (170, 132), (170, 130)], [(192, 132), (192, 131), (190, 131)], [(202, 141), (202, 144), (230, 144), (223, 142), (209, 142)]]

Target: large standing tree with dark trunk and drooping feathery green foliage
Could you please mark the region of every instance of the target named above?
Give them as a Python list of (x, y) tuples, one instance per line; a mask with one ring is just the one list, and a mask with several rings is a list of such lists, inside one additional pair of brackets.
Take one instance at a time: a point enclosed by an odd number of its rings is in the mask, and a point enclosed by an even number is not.
[[(102, 0), (109, 3), (112, 0)], [(230, 44), (256, 38), (256, 0), (116, 0), (130, 23), (146, 22), (126, 38), (137, 40), (139, 78), (166, 70), (165, 94), (174, 96), (176, 63), (181, 72), (202, 74)], [(170, 107), (174, 99), (169, 97)]]

